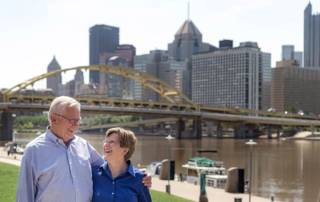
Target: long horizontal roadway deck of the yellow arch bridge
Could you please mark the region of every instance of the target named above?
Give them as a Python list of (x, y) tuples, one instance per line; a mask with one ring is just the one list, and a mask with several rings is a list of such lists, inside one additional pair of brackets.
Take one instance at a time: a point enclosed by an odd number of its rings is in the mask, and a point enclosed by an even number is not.
[[(0, 111), (17, 113), (22, 111), (47, 111), (49, 104), (32, 104), (32, 103), (0, 103)], [(233, 122), (253, 125), (275, 125), (275, 126), (302, 126), (302, 127), (320, 127), (318, 119), (303, 119), (290, 117), (269, 117), (243, 114), (227, 114), (224, 112), (207, 112), (199, 109), (174, 110), (174, 109), (153, 109), (146, 107), (132, 106), (81, 106), (83, 113), (109, 113), (109, 114), (133, 114), (133, 115), (151, 115), (158, 117), (176, 117), (176, 118), (200, 118), (201, 120)]]

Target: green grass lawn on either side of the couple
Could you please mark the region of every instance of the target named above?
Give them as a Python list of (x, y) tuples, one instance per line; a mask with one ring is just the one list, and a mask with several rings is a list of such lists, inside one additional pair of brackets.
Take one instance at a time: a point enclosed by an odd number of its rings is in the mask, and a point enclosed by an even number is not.
[[(0, 163), (0, 201), (12, 202), (16, 200), (16, 185), (19, 167)], [(167, 193), (151, 190), (153, 202), (191, 202)]]

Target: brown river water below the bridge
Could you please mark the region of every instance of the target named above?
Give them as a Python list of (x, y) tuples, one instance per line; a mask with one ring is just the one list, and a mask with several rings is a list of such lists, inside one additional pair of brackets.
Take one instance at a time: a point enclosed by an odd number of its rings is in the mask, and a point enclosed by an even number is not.
[[(82, 134), (100, 153), (103, 135)], [(16, 139), (30, 140), (17, 135)], [(290, 139), (258, 139), (253, 146), (253, 187), (255, 195), (284, 202), (315, 202), (320, 193), (320, 141)], [(176, 173), (189, 158), (199, 156), (197, 150), (217, 150), (202, 154), (223, 161), (226, 168), (249, 171), (250, 148), (246, 140), (203, 138), (201, 140), (167, 140), (165, 137), (138, 136), (132, 161), (145, 166), (152, 161), (175, 160)]]

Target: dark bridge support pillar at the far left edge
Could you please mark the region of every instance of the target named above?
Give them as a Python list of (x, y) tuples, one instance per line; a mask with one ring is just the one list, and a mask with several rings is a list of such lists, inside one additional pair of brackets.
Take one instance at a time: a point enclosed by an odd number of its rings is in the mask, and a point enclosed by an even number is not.
[(12, 141), (13, 116), (10, 112), (2, 112), (0, 122), (0, 142)]

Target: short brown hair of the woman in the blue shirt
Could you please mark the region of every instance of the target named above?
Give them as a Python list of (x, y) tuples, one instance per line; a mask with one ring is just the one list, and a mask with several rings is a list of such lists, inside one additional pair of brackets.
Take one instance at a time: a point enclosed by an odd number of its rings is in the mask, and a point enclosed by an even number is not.
[(129, 160), (134, 153), (137, 142), (135, 134), (131, 130), (116, 127), (107, 130), (106, 137), (109, 137), (113, 133), (118, 134), (120, 147), (129, 149), (128, 153), (124, 156), (126, 161)]

